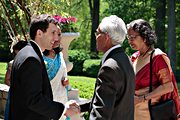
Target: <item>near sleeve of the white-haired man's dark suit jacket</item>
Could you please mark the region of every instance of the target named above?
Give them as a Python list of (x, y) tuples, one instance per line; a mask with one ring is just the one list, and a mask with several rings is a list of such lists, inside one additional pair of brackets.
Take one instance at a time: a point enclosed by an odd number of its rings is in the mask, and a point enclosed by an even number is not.
[(96, 80), (95, 97), (92, 104), (90, 119), (111, 120), (114, 110), (118, 88), (117, 71), (104, 66), (101, 68)]

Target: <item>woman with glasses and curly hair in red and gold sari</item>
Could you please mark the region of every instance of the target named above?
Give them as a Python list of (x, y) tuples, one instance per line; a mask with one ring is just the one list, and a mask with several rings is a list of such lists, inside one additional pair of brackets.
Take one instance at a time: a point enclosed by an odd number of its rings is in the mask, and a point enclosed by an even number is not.
[[(155, 32), (148, 22), (142, 19), (134, 20), (127, 25), (128, 43), (133, 50), (132, 62), (136, 74), (135, 80), (135, 120), (150, 120), (148, 100), (152, 104), (160, 100), (173, 99), (176, 104), (177, 115), (180, 113), (178, 88), (170, 61), (167, 55), (158, 48), (154, 48), (156, 42)], [(152, 67), (152, 92), (149, 93), (150, 79), (150, 54), (153, 54)]]

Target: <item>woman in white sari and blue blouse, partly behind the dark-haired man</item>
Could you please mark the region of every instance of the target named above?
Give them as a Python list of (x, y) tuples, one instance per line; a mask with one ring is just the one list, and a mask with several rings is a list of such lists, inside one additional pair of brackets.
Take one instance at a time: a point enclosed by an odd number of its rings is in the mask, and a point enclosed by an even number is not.
[[(69, 80), (67, 79), (67, 69), (66, 64), (63, 59), (63, 54), (61, 52), (60, 38), (61, 31), (59, 30), (59, 40), (53, 45), (52, 50), (45, 50), (43, 52), (43, 59), (46, 65), (48, 77), (51, 83), (51, 88), (53, 92), (53, 100), (61, 103), (66, 103), (68, 101), (67, 91)], [(66, 119), (62, 116), (60, 120)]]

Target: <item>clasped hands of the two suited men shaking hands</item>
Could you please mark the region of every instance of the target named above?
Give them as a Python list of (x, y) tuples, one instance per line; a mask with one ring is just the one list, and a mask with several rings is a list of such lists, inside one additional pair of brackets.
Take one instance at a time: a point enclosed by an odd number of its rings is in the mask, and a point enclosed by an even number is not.
[(70, 100), (65, 104), (65, 116), (72, 117), (76, 114), (80, 114), (79, 104), (75, 100)]

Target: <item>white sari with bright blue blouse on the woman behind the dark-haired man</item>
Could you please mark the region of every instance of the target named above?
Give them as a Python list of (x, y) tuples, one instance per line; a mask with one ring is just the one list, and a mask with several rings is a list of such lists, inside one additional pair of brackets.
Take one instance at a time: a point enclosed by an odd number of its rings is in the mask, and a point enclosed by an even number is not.
[[(67, 77), (66, 64), (63, 59), (63, 54), (60, 52), (56, 54), (54, 59), (43, 56), (48, 76), (51, 83), (53, 92), (53, 100), (65, 104), (67, 99), (67, 92), (65, 86), (62, 85), (61, 80)], [(66, 117), (62, 116), (60, 120), (65, 120)]]

